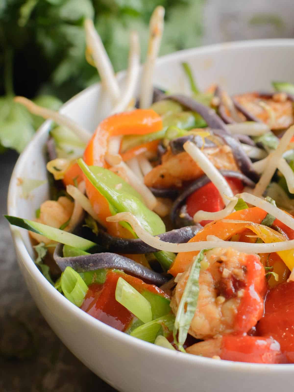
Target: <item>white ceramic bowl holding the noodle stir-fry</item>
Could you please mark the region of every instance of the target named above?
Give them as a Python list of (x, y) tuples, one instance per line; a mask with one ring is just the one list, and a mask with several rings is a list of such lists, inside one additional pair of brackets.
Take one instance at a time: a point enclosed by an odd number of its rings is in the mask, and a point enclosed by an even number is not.
[[(272, 80), (294, 81), (294, 40), (218, 44), (170, 54), (156, 62), (154, 84), (169, 91), (187, 91), (183, 61), (191, 65), (200, 89), (216, 82), (229, 93), (269, 90)], [(122, 85), (124, 77), (124, 73), (119, 75)], [(109, 109), (109, 97), (100, 85), (93, 85), (67, 102), (62, 113), (94, 131)], [(46, 178), (44, 143), (49, 126), (49, 121), (42, 125), (16, 163), (9, 187), (9, 215), (33, 218), (47, 198), (48, 187), (42, 185), (25, 200), (17, 179)], [(74, 355), (114, 388), (125, 392), (292, 390), (294, 365), (254, 365), (182, 354), (132, 338), (94, 319), (42, 276), (31, 258), (27, 232), (11, 227), (11, 233), (20, 269), (48, 324)]]

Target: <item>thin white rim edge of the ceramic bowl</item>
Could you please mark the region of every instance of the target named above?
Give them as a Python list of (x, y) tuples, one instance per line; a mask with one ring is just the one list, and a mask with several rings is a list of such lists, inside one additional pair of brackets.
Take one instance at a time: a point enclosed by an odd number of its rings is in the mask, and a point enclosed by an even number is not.
[[(293, 47), (294, 48), (294, 39), (285, 39), (285, 38), (277, 38), (277, 39), (266, 39), (266, 40), (245, 40), (245, 41), (236, 41), (236, 42), (225, 42), (219, 44), (205, 45), (202, 47), (196, 47), (191, 49), (184, 49), (181, 51), (177, 51), (171, 54), (167, 54), (157, 59), (156, 65), (163, 64), (165, 62), (169, 62), (174, 58), (181, 58), (182, 56), (189, 56), (191, 54), (202, 54), (202, 53), (213, 53), (220, 50), (228, 50), (234, 51), (235, 49), (245, 49), (245, 48), (265, 48), (265, 47)], [(120, 80), (125, 75), (125, 71), (120, 71), (118, 73), (118, 79)], [(60, 109), (60, 113), (63, 113), (67, 106), (78, 99), (81, 95), (91, 91), (92, 89), (97, 89), (100, 83), (95, 83), (80, 93), (73, 96), (70, 100), (68, 100), (62, 108)], [(11, 180), (9, 182), (8, 189), (8, 197), (7, 197), (7, 211), (9, 215), (16, 214), (16, 200), (17, 200), (17, 192), (16, 192), (16, 181), (15, 179), (20, 176), (22, 172), (22, 167), (24, 163), (28, 159), (28, 152), (33, 148), (33, 145), (38, 144), (38, 140), (43, 136), (45, 132), (48, 131), (48, 128), (51, 124), (51, 120), (46, 120), (38, 131), (34, 134), (31, 142), (25, 147), (24, 151), (18, 157), (18, 160), (13, 169), (13, 173), (11, 175)], [(11, 201), (14, 201), (11, 203)], [(95, 319), (93, 316), (90, 316), (80, 308), (76, 307), (73, 303), (67, 300), (58, 290), (56, 290), (47, 279), (42, 275), (42, 273), (38, 270), (35, 265), (33, 259), (29, 255), (25, 247), (25, 243), (22, 239), (22, 235), (20, 230), (11, 226), (11, 236), (14, 240), (15, 250), (21, 255), (22, 261), (25, 264), (26, 269), (30, 272), (31, 276), (33, 276), (34, 280), (37, 281), (43, 289), (54, 298), (57, 302), (60, 302), (61, 306), (66, 307), (68, 311), (72, 312), (76, 317), (78, 317), (82, 322), (86, 325), (91, 325), (91, 327), (97, 328), (97, 331), (107, 334), (113, 339), (118, 339), (121, 342), (125, 343), (129, 347), (142, 350), (142, 355), (144, 352), (148, 352), (148, 354), (153, 354), (154, 356), (160, 357), (162, 360), (170, 360), (175, 361), (179, 360), (185, 366), (185, 364), (194, 364), (196, 365), (207, 365), (209, 368), (213, 370), (238, 370), (244, 374), (252, 374), (252, 372), (259, 373), (261, 376), (267, 375), (269, 370), (274, 374), (289, 374), (292, 372), (294, 367), (292, 364), (257, 364), (257, 363), (245, 363), (245, 362), (233, 362), (233, 361), (217, 361), (212, 360), (211, 358), (205, 358), (194, 355), (185, 355), (182, 352), (173, 351), (164, 349), (163, 347), (156, 346), (152, 343), (148, 343), (142, 341), (137, 338), (133, 338), (125, 334), (124, 332), (118, 331), (109, 325), (104, 324), (102, 321)], [(70, 347), (69, 347), (70, 349)], [(180, 357), (179, 357), (180, 356)], [(177, 359), (180, 358), (180, 359)]]

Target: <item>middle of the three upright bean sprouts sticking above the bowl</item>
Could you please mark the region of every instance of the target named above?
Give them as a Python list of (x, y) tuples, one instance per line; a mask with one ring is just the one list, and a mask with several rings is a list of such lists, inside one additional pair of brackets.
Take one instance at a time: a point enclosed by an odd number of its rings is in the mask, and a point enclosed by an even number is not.
[(127, 109), (130, 101), (134, 98), (136, 85), (140, 71), (140, 43), (136, 31), (130, 36), (129, 65), (127, 69), (127, 84), (120, 100), (114, 106), (111, 114), (120, 113)]

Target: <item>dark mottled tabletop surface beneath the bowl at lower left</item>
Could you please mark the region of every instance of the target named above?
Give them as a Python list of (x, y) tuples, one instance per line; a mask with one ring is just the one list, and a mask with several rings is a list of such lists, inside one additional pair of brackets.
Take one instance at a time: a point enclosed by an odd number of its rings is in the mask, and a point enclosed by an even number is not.
[(57, 338), (27, 290), (3, 217), (17, 157), (0, 155), (0, 391), (115, 392)]

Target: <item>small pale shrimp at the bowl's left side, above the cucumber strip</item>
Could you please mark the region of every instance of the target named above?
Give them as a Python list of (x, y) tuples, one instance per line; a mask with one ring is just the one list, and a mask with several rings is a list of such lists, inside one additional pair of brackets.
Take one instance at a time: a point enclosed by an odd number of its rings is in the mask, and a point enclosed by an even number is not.
[[(73, 208), (74, 203), (65, 196), (61, 196), (57, 201), (46, 200), (41, 204), (40, 217), (35, 219), (35, 221), (59, 229), (60, 226), (69, 220), (73, 213)], [(31, 231), (30, 235), (38, 242), (51, 242), (48, 238)]]

